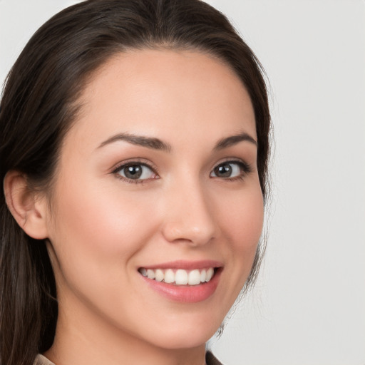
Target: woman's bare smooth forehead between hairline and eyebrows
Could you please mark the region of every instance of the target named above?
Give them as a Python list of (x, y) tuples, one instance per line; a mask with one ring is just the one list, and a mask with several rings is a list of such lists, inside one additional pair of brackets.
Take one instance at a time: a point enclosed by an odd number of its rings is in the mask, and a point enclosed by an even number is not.
[(156, 136), (173, 143), (202, 135), (217, 140), (245, 131), (256, 138), (245, 87), (222, 61), (196, 51), (118, 53), (88, 81), (75, 138), (93, 145), (113, 133)]

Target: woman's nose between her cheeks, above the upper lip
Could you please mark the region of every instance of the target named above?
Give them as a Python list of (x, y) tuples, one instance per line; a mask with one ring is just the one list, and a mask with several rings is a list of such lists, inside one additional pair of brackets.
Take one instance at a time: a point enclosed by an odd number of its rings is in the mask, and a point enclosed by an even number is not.
[(200, 246), (215, 237), (215, 212), (207, 195), (199, 183), (181, 183), (165, 195), (163, 236), (168, 242)]

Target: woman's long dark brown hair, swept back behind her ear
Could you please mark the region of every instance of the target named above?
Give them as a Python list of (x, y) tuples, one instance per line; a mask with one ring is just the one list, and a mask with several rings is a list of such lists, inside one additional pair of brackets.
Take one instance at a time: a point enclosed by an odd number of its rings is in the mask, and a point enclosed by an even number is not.
[[(269, 107), (262, 67), (225, 16), (199, 0), (89, 0), (41, 26), (11, 69), (1, 100), (0, 181), (23, 173), (51, 185), (61, 141), (88, 76), (130, 48), (194, 49), (220, 58), (245, 85), (255, 110), (257, 168), (267, 197)], [(53, 341), (56, 286), (43, 240), (24, 233), (0, 192), (0, 364), (32, 364)], [(260, 250), (260, 248), (259, 248)], [(248, 286), (259, 267), (259, 250)], [(262, 250), (262, 247), (261, 247)]]

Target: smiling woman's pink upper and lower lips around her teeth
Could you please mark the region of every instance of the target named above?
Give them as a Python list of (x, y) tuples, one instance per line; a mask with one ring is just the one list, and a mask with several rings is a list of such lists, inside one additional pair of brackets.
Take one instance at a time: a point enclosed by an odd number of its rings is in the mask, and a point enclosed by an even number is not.
[(140, 274), (140, 278), (145, 281), (148, 286), (163, 295), (173, 302), (181, 303), (197, 303), (202, 302), (214, 294), (215, 289), (220, 281), (220, 274), (222, 273), (222, 263), (212, 260), (205, 260), (199, 262), (174, 261), (165, 262), (163, 264), (144, 267), (145, 269), (205, 269), (207, 267), (215, 267), (215, 274), (210, 282), (205, 282), (198, 285), (175, 285), (166, 284), (165, 282), (158, 282), (154, 279), (148, 279)]

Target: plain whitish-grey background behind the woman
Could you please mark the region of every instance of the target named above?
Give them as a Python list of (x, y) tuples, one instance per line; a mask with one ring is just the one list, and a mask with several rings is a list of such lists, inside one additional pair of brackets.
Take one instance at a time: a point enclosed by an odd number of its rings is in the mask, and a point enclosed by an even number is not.
[[(0, 0), (0, 81), (71, 0)], [(256, 288), (210, 346), (227, 365), (365, 364), (365, 1), (210, 0), (270, 81), (272, 207)]]

